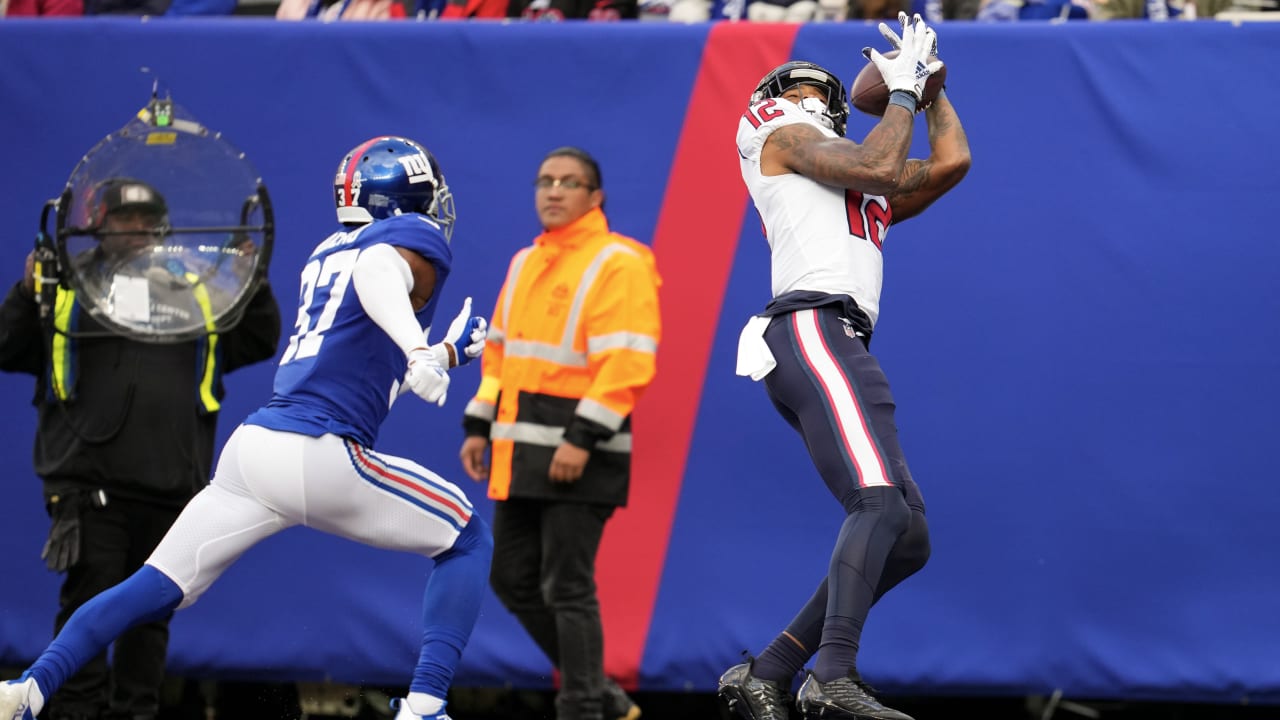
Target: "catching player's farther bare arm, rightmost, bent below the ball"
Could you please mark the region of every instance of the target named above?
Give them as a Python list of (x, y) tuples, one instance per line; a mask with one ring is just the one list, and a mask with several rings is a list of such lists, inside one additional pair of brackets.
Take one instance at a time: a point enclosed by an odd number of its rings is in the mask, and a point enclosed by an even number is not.
[(929, 126), (929, 158), (908, 160), (897, 190), (888, 193), (893, 222), (919, 215), (934, 200), (964, 179), (969, 172), (969, 138), (946, 94), (924, 111)]

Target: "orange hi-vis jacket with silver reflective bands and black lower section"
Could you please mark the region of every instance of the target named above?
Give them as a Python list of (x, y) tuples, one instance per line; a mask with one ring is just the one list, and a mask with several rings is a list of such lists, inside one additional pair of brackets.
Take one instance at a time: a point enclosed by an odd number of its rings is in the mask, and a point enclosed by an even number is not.
[[(599, 209), (512, 258), (465, 419), (467, 434), (492, 441), (489, 497), (626, 505), (630, 416), (657, 370), (659, 284), (649, 247), (609, 232)], [(582, 478), (552, 483), (566, 439), (591, 455)]]

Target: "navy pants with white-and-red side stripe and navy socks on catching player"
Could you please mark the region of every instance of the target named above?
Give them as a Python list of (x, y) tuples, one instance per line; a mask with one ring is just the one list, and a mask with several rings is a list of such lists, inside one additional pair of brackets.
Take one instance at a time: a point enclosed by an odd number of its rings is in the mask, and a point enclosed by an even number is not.
[(771, 646), (797, 642), (805, 652), (785, 648), (780, 662), (767, 650), (762, 660), (797, 670), (817, 650), (822, 682), (856, 673), (872, 603), (929, 552), (924, 500), (899, 445), (888, 379), (855, 327), (832, 305), (778, 315), (764, 333), (777, 360), (765, 377), (769, 398), (804, 438), (846, 518), (827, 578), (788, 626), (791, 639)]

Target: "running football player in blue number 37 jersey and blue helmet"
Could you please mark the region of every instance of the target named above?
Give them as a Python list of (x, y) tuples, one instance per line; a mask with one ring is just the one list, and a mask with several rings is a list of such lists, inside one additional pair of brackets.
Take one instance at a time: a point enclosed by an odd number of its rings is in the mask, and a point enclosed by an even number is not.
[(372, 138), (347, 154), (334, 186), (344, 227), (302, 269), (271, 400), (232, 433), (212, 482), (146, 565), (83, 605), (20, 678), (0, 684), (0, 717), (35, 717), (113, 638), (189, 606), (250, 547), (306, 525), (434, 560), (417, 666), (408, 697), (394, 705), (397, 720), (448, 720), (493, 539), (457, 486), (371, 445), (403, 391), (444, 402), (448, 369), (483, 352), (485, 320), (467, 299), (444, 340), (425, 341), (449, 274), (454, 219), (426, 149)]

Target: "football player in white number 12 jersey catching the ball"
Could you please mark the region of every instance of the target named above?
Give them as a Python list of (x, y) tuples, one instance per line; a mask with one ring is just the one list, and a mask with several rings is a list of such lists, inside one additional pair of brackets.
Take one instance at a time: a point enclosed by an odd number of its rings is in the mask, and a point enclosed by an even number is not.
[[(879, 315), (881, 247), (891, 224), (920, 213), (969, 169), (955, 109), (920, 99), (936, 36), (919, 15), (881, 23), (900, 54), (867, 49), (891, 91), (861, 143), (845, 138), (840, 79), (813, 63), (780, 65), (760, 81), (739, 122), (742, 179), (772, 254), (773, 299), (739, 341), (739, 374), (763, 379), (778, 413), (804, 437), (827, 488), (845, 509), (828, 574), (758, 657), (728, 669), (721, 696), (749, 720), (790, 717), (796, 674), (804, 717), (910, 720), (883, 706), (858, 673), (863, 623), (884, 592), (929, 555), (924, 502), (893, 424), (893, 397), (868, 352)], [(931, 155), (909, 160), (924, 111)]]

